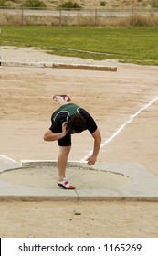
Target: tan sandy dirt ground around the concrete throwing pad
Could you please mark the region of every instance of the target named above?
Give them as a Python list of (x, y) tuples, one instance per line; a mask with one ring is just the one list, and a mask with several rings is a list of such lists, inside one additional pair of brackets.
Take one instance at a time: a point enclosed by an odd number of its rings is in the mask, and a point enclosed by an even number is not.
[[(11, 53), (4, 50), (5, 58), (11, 59)], [(29, 49), (29, 54), (33, 56), (35, 52)], [(16, 58), (19, 56), (16, 51)], [(42, 53), (41, 58), (44, 56), (49, 58)], [(58, 61), (59, 57), (50, 59)], [(116, 61), (101, 64), (117, 64), (118, 71), (2, 67), (0, 154), (17, 161), (57, 159), (57, 143), (44, 142), (43, 134), (49, 128), (51, 113), (58, 107), (52, 95), (66, 93), (98, 123), (104, 144), (99, 162), (139, 163), (158, 176), (158, 67)], [(153, 104), (127, 123), (132, 114), (151, 101)], [(127, 125), (107, 144), (123, 123)], [(83, 159), (92, 144), (88, 132), (74, 135), (69, 160)], [(158, 236), (155, 202), (1, 201), (0, 211), (0, 237)]]

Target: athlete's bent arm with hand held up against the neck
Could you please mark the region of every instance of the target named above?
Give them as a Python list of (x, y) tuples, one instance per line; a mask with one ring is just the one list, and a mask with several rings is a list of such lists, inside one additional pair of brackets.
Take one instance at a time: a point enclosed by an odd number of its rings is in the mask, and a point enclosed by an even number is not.
[(44, 134), (44, 141), (47, 142), (53, 142), (53, 141), (57, 141), (63, 137), (65, 137), (65, 135), (67, 135), (67, 130), (66, 130), (67, 124), (66, 122), (62, 123), (62, 132), (61, 133), (53, 133), (52, 131), (47, 131), (47, 133)]

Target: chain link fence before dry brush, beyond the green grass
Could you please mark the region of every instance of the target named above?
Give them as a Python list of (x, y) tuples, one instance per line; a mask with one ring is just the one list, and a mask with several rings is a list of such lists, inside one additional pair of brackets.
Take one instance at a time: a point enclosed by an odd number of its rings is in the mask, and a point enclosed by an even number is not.
[(157, 26), (158, 9), (53, 9), (0, 7), (0, 25)]

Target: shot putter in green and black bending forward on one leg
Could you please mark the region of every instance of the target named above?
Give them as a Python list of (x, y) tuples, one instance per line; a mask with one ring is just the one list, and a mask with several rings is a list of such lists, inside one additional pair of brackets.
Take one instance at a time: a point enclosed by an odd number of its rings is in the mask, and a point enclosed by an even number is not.
[(100, 151), (101, 136), (99, 128), (90, 113), (74, 103), (67, 95), (55, 95), (54, 101), (60, 105), (52, 114), (51, 127), (44, 134), (44, 140), (48, 142), (58, 141), (58, 186), (64, 189), (75, 189), (68, 183), (66, 166), (68, 154), (71, 149), (71, 134), (81, 133), (88, 130), (94, 139), (92, 155), (87, 159), (88, 165), (94, 165)]

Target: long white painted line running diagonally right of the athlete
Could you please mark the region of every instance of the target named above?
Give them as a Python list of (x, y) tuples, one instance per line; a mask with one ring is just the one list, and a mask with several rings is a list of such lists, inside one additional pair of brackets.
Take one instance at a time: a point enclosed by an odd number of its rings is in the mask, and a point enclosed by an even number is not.
[[(101, 145), (100, 148), (103, 147), (106, 144), (109, 144), (111, 142), (111, 140), (113, 140), (119, 133), (121, 133), (121, 131), (126, 127), (127, 124), (132, 123), (132, 120), (138, 115), (140, 114), (142, 111), (146, 110), (147, 108), (149, 108), (155, 101), (158, 101), (158, 97), (154, 98), (152, 101), (150, 101), (148, 104), (146, 104), (145, 106), (143, 106), (138, 112), (135, 112), (134, 114), (131, 115), (131, 117), (121, 125), (121, 127), (118, 128), (118, 130), (113, 133), (111, 135), (111, 137), (109, 137), (107, 140), (105, 140)], [(90, 157), (90, 155), (92, 155), (92, 150), (90, 150), (88, 155), (85, 155), (81, 161), (85, 161), (86, 159), (88, 159)]]

